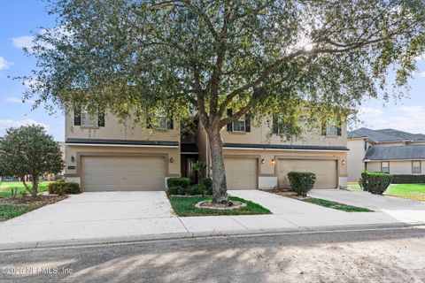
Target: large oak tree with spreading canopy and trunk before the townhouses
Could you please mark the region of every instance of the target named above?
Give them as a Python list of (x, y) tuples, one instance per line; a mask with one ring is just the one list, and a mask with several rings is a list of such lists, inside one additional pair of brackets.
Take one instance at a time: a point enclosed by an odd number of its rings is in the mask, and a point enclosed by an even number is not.
[[(421, 0), (50, 1), (57, 27), (36, 37), (27, 97), (122, 118), (195, 110), (212, 152), (213, 201), (226, 202), (220, 129), (245, 114), (274, 113), (290, 138), (299, 134), (299, 111), (313, 123), (381, 92), (398, 96), (424, 52), (424, 7)], [(390, 69), (396, 88), (387, 88)]]

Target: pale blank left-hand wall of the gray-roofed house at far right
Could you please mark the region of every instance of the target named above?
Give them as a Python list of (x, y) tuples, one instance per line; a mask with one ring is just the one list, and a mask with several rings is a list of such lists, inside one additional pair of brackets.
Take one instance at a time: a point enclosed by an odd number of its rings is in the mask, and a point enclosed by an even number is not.
[(361, 172), (365, 170), (363, 158), (365, 157), (365, 140), (350, 139), (347, 141), (347, 148), (350, 151), (347, 153), (347, 171), (348, 181), (357, 182), (361, 176)]

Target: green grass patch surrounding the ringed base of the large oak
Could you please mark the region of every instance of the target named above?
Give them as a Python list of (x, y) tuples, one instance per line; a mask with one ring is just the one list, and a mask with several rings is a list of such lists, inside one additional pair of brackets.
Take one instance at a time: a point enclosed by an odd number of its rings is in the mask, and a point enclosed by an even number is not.
[(243, 214), (270, 214), (270, 210), (262, 207), (257, 203), (246, 201), (242, 198), (229, 196), (230, 201), (238, 201), (246, 203), (247, 205), (238, 210), (210, 210), (210, 209), (198, 209), (195, 204), (211, 200), (211, 196), (177, 196), (170, 195), (170, 203), (173, 206), (175, 213), (178, 216), (208, 216), (208, 215), (243, 215)]

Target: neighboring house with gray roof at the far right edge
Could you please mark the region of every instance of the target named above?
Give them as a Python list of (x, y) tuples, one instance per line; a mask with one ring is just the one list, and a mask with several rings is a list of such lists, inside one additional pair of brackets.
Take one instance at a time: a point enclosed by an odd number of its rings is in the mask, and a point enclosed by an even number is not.
[(422, 174), (425, 135), (394, 129), (359, 128), (348, 134), (348, 180), (359, 180), (363, 170), (391, 174)]

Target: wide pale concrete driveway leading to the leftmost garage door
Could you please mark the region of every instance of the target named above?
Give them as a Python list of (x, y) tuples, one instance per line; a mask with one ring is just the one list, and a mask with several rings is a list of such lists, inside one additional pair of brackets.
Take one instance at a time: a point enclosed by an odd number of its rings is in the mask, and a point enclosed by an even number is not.
[(165, 192), (71, 195), (0, 224), (0, 244), (186, 233)]

